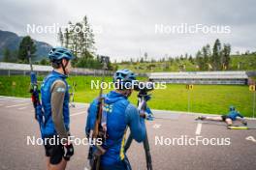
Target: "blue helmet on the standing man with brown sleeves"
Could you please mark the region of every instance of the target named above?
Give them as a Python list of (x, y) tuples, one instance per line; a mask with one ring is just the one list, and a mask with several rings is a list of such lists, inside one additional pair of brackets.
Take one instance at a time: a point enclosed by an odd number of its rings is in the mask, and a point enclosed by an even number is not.
[(53, 47), (48, 53), (48, 59), (50, 61), (58, 61), (61, 59), (72, 60), (74, 58), (72, 52), (65, 47)]

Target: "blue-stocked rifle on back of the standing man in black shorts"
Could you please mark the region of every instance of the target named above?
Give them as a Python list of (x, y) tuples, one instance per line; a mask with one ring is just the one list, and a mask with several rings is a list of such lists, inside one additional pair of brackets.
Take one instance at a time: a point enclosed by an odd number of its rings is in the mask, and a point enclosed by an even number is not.
[(27, 55), (30, 64), (30, 93), (33, 106), (35, 108), (35, 119), (38, 121), (40, 129), (43, 126), (44, 122), (44, 111), (42, 109), (41, 101), (39, 99), (39, 90), (38, 90), (38, 82), (36, 72), (33, 71), (32, 59), (30, 53), (30, 46), (28, 46)]

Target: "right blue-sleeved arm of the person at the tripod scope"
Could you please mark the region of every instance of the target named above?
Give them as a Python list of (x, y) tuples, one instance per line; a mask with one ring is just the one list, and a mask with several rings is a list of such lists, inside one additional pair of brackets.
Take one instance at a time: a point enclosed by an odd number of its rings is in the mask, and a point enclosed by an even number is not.
[(138, 109), (129, 104), (125, 110), (125, 121), (131, 130), (133, 138), (137, 142), (144, 141), (145, 137), (145, 125), (144, 118), (141, 118)]

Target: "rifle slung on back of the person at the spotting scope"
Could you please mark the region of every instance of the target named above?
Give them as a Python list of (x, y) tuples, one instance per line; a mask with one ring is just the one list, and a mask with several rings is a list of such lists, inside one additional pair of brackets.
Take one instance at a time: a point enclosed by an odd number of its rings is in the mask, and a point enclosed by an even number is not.
[[(107, 65), (109, 62), (109, 57), (101, 56), (101, 63), (103, 64), (103, 76), (101, 80), (101, 85), (104, 82), (104, 76), (105, 71), (108, 69)], [(92, 158), (92, 170), (99, 170), (100, 169), (100, 162), (101, 162), (101, 156), (105, 154), (106, 150), (101, 146), (97, 144), (97, 139), (101, 139), (102, 143), (105, 141), (107, 137), (107, 115), (104, 115), (103, 112), (103, 106), (104, 106), (104, 97), (103, 97), (103, 90), (102, 87), (100, 87), (100, 95), (98, 98), (98, 105), (97, 105), (97, 116), (96, 121), (94, 124), (94, 129), (90, 132), (90, 138), (95, 139), (96, 141), (96, 148), (97, 150), (92, 153), (92, 147), (89, 149), (89, 155), (88, 158)]]

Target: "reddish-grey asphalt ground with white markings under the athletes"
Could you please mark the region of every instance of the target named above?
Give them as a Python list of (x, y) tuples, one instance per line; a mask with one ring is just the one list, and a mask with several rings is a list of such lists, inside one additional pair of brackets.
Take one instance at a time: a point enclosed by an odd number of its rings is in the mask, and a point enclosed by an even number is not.
[[(84, 138), (88, 104), (71, 107), (71, 133)], [(231, 130), (224, 124), (196, 122), (196, 115), (153, 110), (154, 121), (146, 128), (154, 169), (172, 170), (254, 170), (256, 167), (256, 130)], [(248, 120), (248, 125), (256, 125)], [(27, 145), (27, 136), (40, 138), (30, 99), (0, 97), (0, 169), (46, 169), (44, 147)], [(128, 136), (128, 134), (127, 134)], [(194, 138), (228, 140), (230, 145), (185, 144)], [(183, 141), (183, 143), (182, 143)], [(227, 142), (227, 141), (226, 141)], [(67, 169), (89, 169), (88, 145), (75, 145), (75, 156)], [(145, 169), (143, 144), (133, 142), (127, 152), (135, 170)]]

